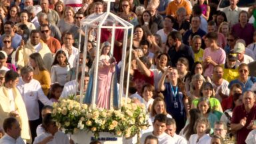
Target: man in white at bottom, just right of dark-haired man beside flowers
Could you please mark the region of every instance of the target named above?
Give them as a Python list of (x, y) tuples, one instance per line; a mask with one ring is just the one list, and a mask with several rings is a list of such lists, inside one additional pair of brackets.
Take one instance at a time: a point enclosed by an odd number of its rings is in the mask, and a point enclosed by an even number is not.
[(176, 134), (176, 122), (175, 119), (167, 118), (165, 133), (173, 137), (174, 144), (187, 144), (187, 140), (184, 137)]

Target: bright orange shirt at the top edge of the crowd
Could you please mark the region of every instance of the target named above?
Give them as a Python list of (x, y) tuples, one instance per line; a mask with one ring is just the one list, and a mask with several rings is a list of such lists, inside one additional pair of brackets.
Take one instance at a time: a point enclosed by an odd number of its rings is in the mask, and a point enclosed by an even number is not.
[(169, 3), (167, 6), (166, 15), (175, 15), (175, 17), (177, 17), (176, 11), (177, 9), (179, 9), (179, 7), (184, 7), (187, 11), (187, 15), (191, 15), (192, 13), (191, 7), (188, 1), (185, 1), (185, 0), (181, 0), (181, 3), (179, 4), (177, 4), (175, 1), (171, 1), (171, 3)]

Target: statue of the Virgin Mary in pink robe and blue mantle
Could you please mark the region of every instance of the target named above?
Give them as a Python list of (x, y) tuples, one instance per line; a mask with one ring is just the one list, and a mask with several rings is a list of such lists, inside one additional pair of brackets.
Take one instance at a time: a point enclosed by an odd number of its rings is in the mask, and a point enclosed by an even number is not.
[[(111, 43), (108, 41), (102, 43), (97, 77), (96, 105), (98, 108), (103, 109), (117, 108), (119, 104), (116, 73), (118, 68), (116, 67), (115, 57), (111, 57), (110, 49)], [(95, 70), (95, 67), (93, 67), (89, 73), (89, 85), (85, 93), (85, 99), (83, 99), (83, 103), (89, 105), (92, 103)]]

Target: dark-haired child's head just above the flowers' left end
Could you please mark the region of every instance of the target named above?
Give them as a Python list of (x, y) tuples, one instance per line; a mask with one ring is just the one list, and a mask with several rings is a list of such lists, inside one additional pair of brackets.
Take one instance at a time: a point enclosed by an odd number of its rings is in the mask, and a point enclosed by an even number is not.
[(59, 97), (61, 97), (62, 90), (63, 88), (61, 85), (59, 85), (59, 83), (54, 83), (53, 85), (51, 85), (49, 99), (52, 102), (58, 102)]

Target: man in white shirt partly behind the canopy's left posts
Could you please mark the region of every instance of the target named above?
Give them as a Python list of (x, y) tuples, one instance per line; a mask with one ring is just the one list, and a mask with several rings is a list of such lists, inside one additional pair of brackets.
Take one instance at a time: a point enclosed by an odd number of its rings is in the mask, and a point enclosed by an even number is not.
[[(81, 78), (82, 78), (82, 73), (79, 72), (78, 77), (77, 77), (78, 83), (77, 83), (76, 79), (65, 83), (63, 91), (61, 93), (61, 98), (67, 99), (68, 96), (70, 96), (70, 95), (77, 95), (77, 93), (79, 93), (80, 88), (81, 88)], [(87, 90), (87, 85), (89, 83), (89, 74), (88, 73), (85, 73), (85, 77), (83, 80), (84, 80), (83, 92), (85, 93)]]

